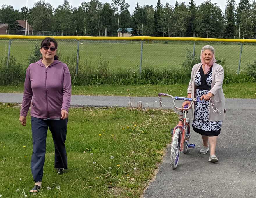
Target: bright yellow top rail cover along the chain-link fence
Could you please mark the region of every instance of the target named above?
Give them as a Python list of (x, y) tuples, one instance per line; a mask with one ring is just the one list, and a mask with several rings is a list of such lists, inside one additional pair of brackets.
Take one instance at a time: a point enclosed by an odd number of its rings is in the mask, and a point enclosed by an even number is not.
[(256, 42), (256, 39), (213, 39), (197, 37), (154, 37), (154, 36), (24, 36), (24, 35), (0, 35), (0, 39), (45, 39), (52, 37), (54, 39), (75, 39), (75, 40), (164, 40), (164, 41), (217, 41), (217, 42)]

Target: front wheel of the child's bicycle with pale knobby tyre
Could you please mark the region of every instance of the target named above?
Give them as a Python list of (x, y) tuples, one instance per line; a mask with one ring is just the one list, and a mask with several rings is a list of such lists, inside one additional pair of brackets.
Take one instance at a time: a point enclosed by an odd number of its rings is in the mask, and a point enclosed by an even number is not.
[(177, 168), (179, 162), (179, 150), (181, 144), (181, 131), (176, 129), (173, 135), (172, 147), (171, 147), (171, 166), (173, 169)]

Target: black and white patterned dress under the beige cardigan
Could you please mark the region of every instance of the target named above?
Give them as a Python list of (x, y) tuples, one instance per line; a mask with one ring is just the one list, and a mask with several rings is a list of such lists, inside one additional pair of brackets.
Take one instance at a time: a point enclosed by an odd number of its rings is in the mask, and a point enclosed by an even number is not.
[[(212, 67), (208, 74), (204, 74), (203, 67), (201, 65), (196, 77), (196, 97), (201, 97), (207, 94), (211, 89), (211, 75)], [(209, 121), (209, 100), (207, 103), (195, 102), (195, 114), (192, 127), (195, 132), (206, 136), (217, 136), (221, 133), (222, 121)]]

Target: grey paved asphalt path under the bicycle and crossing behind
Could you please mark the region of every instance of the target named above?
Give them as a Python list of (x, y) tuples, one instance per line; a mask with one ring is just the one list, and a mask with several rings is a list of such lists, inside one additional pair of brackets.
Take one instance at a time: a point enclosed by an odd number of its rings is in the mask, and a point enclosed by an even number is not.
[[(22, 94), (0, 93), (0, 102), (21, 103)], [(120, 106), (129, 101), (136, 106), (159, 107), (157, 97), (112, 97), (72, 95), (73, 106)], [(157, 101), (157, 103), (155, 103)], [(208, 162), (209, 153), (200, 155), (200, 135), (192, 131), (190, 143), (196, 144), (187, 154), (181, 153), (179, 166), (169, 163), (170, 145), (154, 181), (144, 197), (256, 197), (256, 100), (226, 99), (227, 115), (219, 135), (216, 154), (219, 162)], [(146, 104), (147, 103), (147, 104)], [(170, 99), (163, 98), (166, 108)]]

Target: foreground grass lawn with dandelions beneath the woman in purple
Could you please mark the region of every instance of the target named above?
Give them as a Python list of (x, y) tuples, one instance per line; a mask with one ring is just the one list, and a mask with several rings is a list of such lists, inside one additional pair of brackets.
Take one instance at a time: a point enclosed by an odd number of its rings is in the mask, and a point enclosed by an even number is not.
[[(0, 195), (24, 197), (34, 184), (30, 116), (24, 127), (18, 120), (19, 106), (0, 103), (0, 119)], [(175, 121), (172, 111), (71, 108), (66, 140), (69, 169), (56, 174), (48, 132), (38, 197), (139, 197), (161, 162)]]

